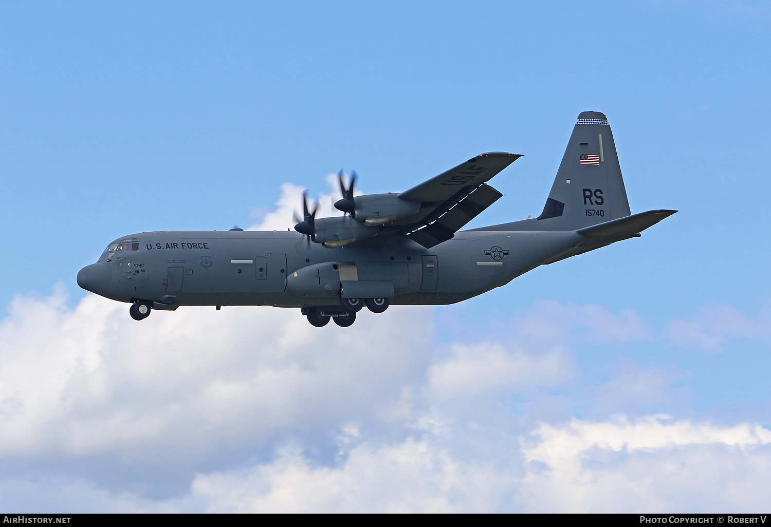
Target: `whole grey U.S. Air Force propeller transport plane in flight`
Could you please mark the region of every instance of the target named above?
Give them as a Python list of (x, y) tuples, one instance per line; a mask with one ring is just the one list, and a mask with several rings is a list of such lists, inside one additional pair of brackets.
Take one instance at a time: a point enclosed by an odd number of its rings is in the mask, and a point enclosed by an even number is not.
[[(639, 237), (675, 210), (631, 215), (608, 119), (581, 112), (539, 217), (460, 231), (502, 194), (487, 182), (520, 155), (483, 153), (405, 192), (353, 195), (297, 232), (159, 231), (110, 243), (78, 284), (131, 304), (140, 321), (179, 306), (299, 307), (348, 327), (367, 306), (454, 304), (544, 263)], [(318, 203), (317, 203), (318, 208)], [(312, 243), (311, 243), (312, 242)]]

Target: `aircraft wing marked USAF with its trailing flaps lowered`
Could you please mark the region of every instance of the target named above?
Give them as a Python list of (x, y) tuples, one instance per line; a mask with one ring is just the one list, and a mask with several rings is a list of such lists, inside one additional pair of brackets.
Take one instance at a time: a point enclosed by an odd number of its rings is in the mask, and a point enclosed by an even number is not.
[(503, 196), (486, 182), (520, 157), (507, 152), (483, 153), (399, 193), (402, 200), (420, 202), (420, 213), (386, 230), (405, 234), (426, 248), (453, 238), (461, 227)]

